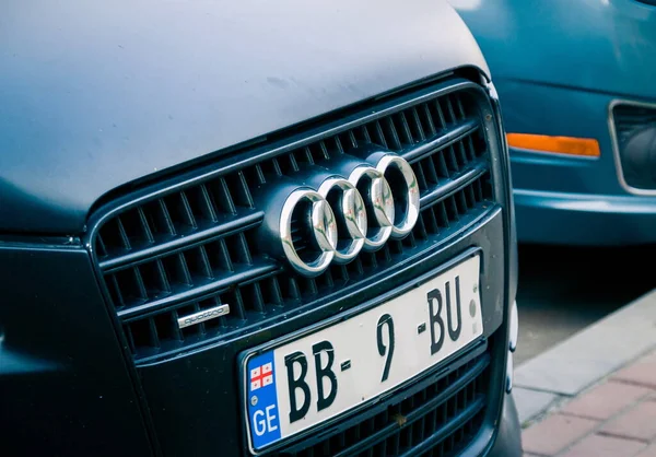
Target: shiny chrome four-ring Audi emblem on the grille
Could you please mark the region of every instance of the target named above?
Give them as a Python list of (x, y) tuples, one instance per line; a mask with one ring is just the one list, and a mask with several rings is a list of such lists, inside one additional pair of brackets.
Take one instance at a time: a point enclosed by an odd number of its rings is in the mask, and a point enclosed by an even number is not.
[(284, 256), (304, 276), (348, 263), (362, 249), (374, 251), (390, 237), (408, 235), (419, 218), (419, 197), (406, 160), (373, 154), (348, 176), (332, 174), (316, 189), (289, 195), (280, 218)]

